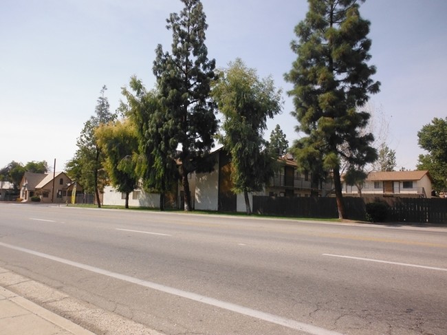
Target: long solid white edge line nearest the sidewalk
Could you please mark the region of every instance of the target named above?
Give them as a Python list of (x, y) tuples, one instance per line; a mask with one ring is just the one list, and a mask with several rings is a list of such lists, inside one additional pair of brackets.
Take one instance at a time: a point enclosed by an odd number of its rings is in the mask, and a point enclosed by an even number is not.
[(58, 263), (63, 263), (63, 264), (69, 265), (69, 266), (74, 266), (76, 268), (80, 268), (80, 269), (83, 269), (83, 270), (87, 270), (87, 271), (91, 271), (91, 272), (94, 272), (94, 273), (102, 274), (102, 275), (107, 276), (107, 277), (120, 279), (122, 281), (127, 281), (129, 283), (141, 285), (141, 286), (144, 286), (146, 288), (151, 288), (153, 290), (157, 290), (157, 291), (160, 291), (160, 292), (173, 294), (175, 296), (180, 296), (182, 298), (190, 299), (190, 300), (193, 300), (193, 301), (198, 301), (199, 303), (206, 303), (207, 305), (220, 307), (220, 308), (223, 308), (225, 310), (230, 310), (232, 312), (236, 312), (236, 313), (243, 314), (243, 315), (246, 315), (246, 316), (251, 316), (253, 318), (258, 318), (259, 320), (268, 321), (270, 323), (275, 323), (276, 325), (282, 325), (284, 327), (288, 327), (288, 328), (291, 328), (291, 329), (296, 329), (296, 330), (299, 330), (301, 332), (306, 332), (308, 334), (313, 334), (313, 335), (342, 335), (341, 333), (334, 332), (334, 331), (329, 330), (329, 329), (324, 329), (324, 328), (316, 327), (314, 325), (309, 325), (307, 323), (294, 321), (294, 320), (292, 320), (290, 318), (283, 318), (281, 316), (270, 314), (270, 313), (261, 312), (259, 310), (252, 310), (251, 308), (243, 307), (241, 305), (236, 305), (235, 303), (228, 303), (226, 301), (221, 301), (221, 300), (218, 300), (218, 299), (210, 298), (208, 296), (202, 296), (200, 294), (196, 294), (196, 293), (193, 293), (193, 292), (188, 292), (188, 291), (184, 291), (184, 290), (178, 290), (177, 288), (171, 288), (169, 286), (153, 283), (151, 281), (144, 281), (142, 279), (138, 279), (138, 278), (135, 278), (135, 277), (127, 276), (126, 274), (120, 274), (120, 273), (116, 273), (116, 272), (111, 272), (109, 270), (104, 270), (104, 269), (101, 269), (101, 268), (95, 268), (94, 266), (88, 266), (86, 264), (78, 263), (76, 261), (70, 261), (69, 259), (63, 259), (61, 257), (48, 255), (48, 254), (45, 254), (43, 252), (34, 251), (34, 250), (26, 249), (26, 248), (21, 248), (21, 247), (18, 247), (18, 246), (12, 246), (10, 244), (6, 244), (6, 243), (3, 243), (3, 242), (0, 242), (0, 246), (3, 246), (5, 248), (10, 248), (10, 249), (13, 249), (13, 250), (18, 250), (18, 251), (21, 251), (21, 252), (26, 252), (26, 253), (28, 253), (30, 255), (42, 257), (42, 258), (45, 258), (45, 259), (50, 259), (52, 261), (57, 261)]

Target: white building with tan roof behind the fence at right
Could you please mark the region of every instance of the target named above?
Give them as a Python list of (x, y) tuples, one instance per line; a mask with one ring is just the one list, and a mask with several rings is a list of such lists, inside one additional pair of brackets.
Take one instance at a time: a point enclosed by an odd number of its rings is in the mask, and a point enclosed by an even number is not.
[[(426, 197), (432, 196), (430, 173), (417, 171), (379, 171), (369, 173), (361, 189), (362, 196)], [(343, 182), (345, 195), (358, 195), (356, 186)]]

